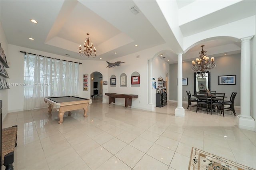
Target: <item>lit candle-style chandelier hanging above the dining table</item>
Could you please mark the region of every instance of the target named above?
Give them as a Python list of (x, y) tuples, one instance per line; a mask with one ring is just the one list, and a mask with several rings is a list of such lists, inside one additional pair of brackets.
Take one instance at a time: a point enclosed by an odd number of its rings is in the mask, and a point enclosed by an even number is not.
[(207, 51), (204, 51), (204, 45), (201, 45), (201, 47), (202, 47), (202, 51), (199, 52), (200, 58), (196, 58), (196, 62), (194, 60), (192, 61), (192, 69), (194, 71), (205, 72), (206, 70), (209, 70), (215, 67), (215, 63), (214, 63), (214, 57), (209, 59), (209, 57), (206, 56)]

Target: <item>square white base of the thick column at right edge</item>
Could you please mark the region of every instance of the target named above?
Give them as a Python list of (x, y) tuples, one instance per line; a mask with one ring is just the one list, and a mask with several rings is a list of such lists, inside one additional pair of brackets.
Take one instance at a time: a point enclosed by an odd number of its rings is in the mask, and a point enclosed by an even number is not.
[(255, 131), (255, 120), (253, 118), (246, 118), (238, 115), (236, 117), (236, 123), (241, 129)]

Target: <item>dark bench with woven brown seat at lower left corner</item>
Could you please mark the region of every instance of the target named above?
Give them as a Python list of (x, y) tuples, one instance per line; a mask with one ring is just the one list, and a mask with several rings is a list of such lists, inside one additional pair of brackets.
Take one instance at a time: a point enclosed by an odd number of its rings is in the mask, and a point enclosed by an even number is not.
[(12, 126), (2, 129), (2, 153), (1, 166), (5, 166), (5, 170), (13, 170), (14, 148), (17, 146), (17, 130), (18, 126)]

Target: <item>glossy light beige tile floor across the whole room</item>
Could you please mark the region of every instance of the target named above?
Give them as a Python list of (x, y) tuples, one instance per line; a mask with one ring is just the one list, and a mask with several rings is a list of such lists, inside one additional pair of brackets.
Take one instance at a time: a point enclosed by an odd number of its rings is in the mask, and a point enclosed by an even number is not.
[(44, 108), (8, 113), (3, 127), (18, 125), (14, 170), (187, 170), (192, 147), (256, 169), (256, 132), (239, 129), (228, 111), (207, 115), (184, 103), (182, 118), (176, 106), (150, 112), (95, 98), (86, 118), (80, 109), (58, 124)]

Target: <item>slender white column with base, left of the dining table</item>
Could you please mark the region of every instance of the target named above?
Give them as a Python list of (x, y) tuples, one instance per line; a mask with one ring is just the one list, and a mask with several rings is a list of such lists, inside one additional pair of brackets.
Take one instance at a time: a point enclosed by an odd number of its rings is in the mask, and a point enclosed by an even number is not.
[(175, 109), (175, 116), (184, 117), (185, 109), (182, 107), (182, 54), (178, 54), (178, 106)]

